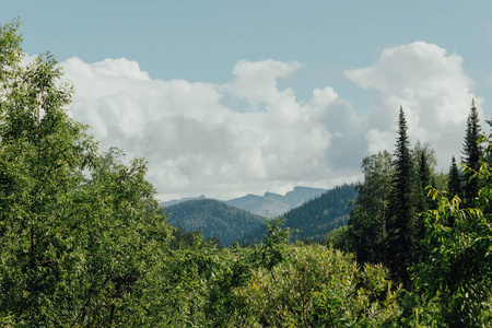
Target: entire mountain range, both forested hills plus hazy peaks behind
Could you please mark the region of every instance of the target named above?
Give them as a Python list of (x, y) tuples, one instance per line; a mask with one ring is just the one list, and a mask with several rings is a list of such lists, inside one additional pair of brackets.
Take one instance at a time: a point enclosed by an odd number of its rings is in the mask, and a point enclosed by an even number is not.
[[(348, 222), (351, 201), (356, 198), (354, 185), (343, 185), (323, 192), (323, 189), (296, 187), (285, 196), (266, 192), (263, 197), (248, 195), (230, 201), (209, 199), (204, 196), (184, 201), (167, 202), (168, 223), (187, 232), (201, 232), (206, 238), (219, 238), (224, 246), (234, 241), (242, 244), (257, 243), (266, 233), (266, 218), (255, 211), (293, 207), (286, 213), (285, 226), (297, 230), (294, 239), (323, 239)], [(306, 201), (306, 198), (313, 197)], [(294, 206), (295, 204), (295, 206)], [(277, 206), (273, 208), (272, 206)], [(241, 209), (242, 207), (243, 209)], [(279, 215), (280, 215), (279, 214)], [(277, 215), (271, 215), (274, 218)]]

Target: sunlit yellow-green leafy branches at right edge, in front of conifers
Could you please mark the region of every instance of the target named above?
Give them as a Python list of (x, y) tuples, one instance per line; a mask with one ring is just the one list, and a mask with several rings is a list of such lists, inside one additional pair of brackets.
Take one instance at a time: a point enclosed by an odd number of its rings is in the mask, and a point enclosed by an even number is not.
[[(485, 141), (489, 157), (492, 145)], [(487, 327), (492, 320), (491, 172), (482, 162), (471, 175), (482, 186), (477, 208), (461, 209), (457, 196), (449, 200), (434, 190), (438, 207), (426, 214), (430, 259), (415, 268), (414, 284), (424, 307), (434, 309), (432, 317), (452, 327)]]

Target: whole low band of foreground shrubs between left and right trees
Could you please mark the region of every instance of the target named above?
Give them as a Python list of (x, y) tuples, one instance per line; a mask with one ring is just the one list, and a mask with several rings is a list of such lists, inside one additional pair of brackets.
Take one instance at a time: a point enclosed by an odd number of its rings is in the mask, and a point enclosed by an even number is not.
[(359, 269), (349, 255), (286, 244), (283, 220), (261, 245), (218, 250), (203, 239), (165, 260), (154, 316), (172, 327), (394, 325), (399, 289), (382, 266)]

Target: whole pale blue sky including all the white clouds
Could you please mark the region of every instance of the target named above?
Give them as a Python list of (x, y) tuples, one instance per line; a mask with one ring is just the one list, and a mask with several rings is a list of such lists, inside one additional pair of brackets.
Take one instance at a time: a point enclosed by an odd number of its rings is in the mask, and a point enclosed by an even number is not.
[(149, 161), (160, 200), (231, 199), (362, 179), (402, 106), (437, 169), (492, 114), (490, 1), (27, 1), (27, 56), (50, 51), (101, 150)]

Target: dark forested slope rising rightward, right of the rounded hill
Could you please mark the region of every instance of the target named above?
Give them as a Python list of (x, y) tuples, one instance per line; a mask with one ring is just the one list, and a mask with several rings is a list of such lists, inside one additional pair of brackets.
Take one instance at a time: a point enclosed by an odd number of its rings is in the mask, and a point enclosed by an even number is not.
[[(352, 200), (356, 199), (355, 185), (335, 187), (321, 196), (288, 211), (285, 226), (298, 230), (292, 234), (292, 239), (318, 241), (349, 221)], [(267, 232), (265, 225), (245, 235), (239, 242), (251, 244), (260, 242)]]

